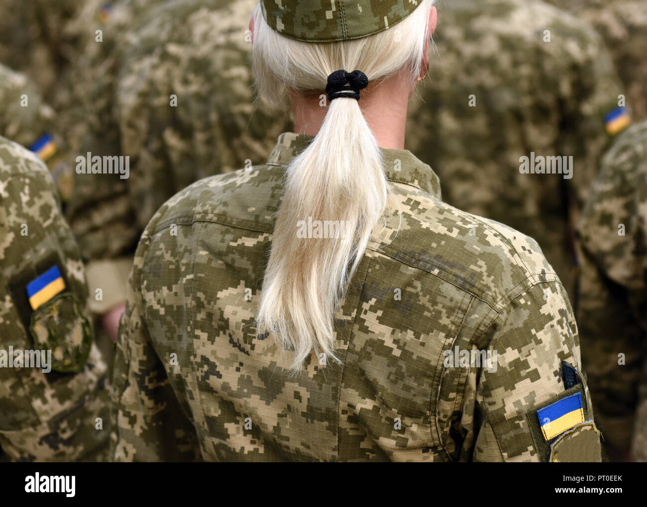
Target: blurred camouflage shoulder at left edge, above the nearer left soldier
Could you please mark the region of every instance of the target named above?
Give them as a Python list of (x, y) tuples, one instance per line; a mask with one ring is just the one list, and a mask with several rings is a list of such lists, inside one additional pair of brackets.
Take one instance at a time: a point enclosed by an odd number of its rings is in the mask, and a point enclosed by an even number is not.
[(19, 72), (0, 64), (0, 136), (30, 148), (43, 136), (51, 137), (52, 150), (41, 152), (63, 202), (72, 194), (72, 167), (63, 154), (65, 138), (58, 130), (58, 116), (45, 104), (36, 85)]

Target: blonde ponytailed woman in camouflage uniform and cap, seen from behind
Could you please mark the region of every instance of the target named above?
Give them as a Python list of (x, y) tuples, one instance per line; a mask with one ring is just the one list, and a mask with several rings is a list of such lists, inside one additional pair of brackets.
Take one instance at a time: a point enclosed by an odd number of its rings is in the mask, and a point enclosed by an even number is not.
[(402, 149), (432, 3), (261, 0), (256, 83), (289, 97), (298, 133), (148, 224), (116, 358), (116, 459), (600, 459), (575, 321), (540, 248), (444, 204)]

